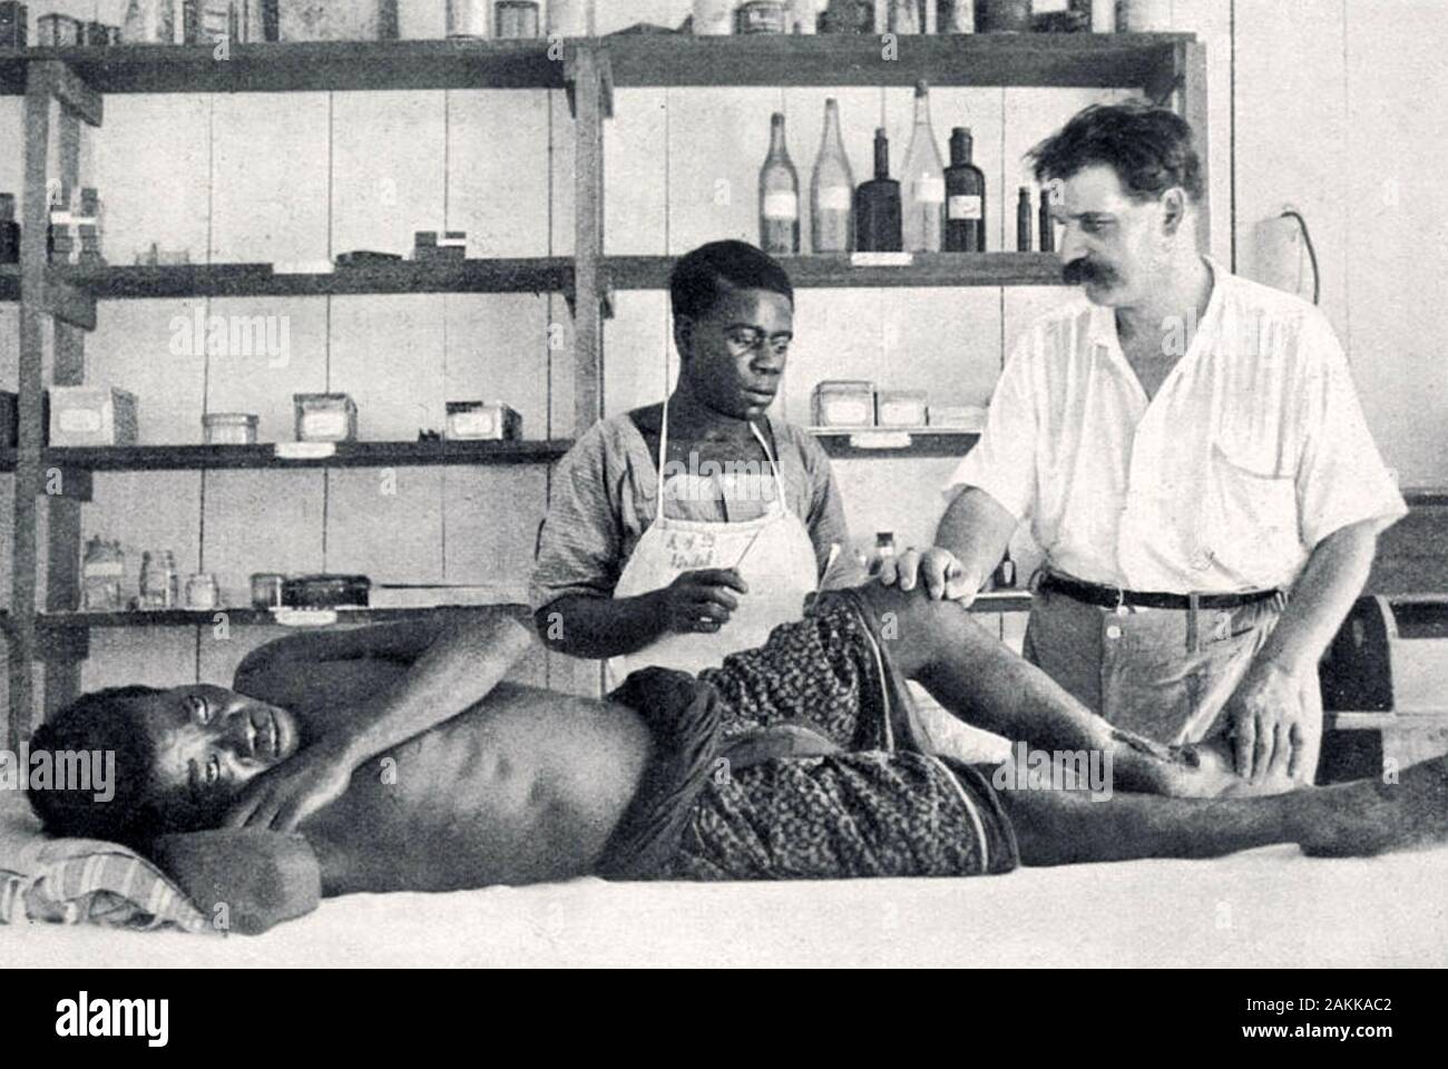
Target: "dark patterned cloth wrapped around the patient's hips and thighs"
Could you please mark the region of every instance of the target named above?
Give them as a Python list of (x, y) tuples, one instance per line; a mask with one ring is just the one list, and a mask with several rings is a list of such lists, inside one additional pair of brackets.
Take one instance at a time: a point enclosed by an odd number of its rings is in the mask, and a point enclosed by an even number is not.
[(1019, 865), (976, 769), (919, 747), (904, 679), (862, 595), (821, 595), (698, 679), (628, 676), (654, 758), (615, 829), (608, 879), (969, 876)]

